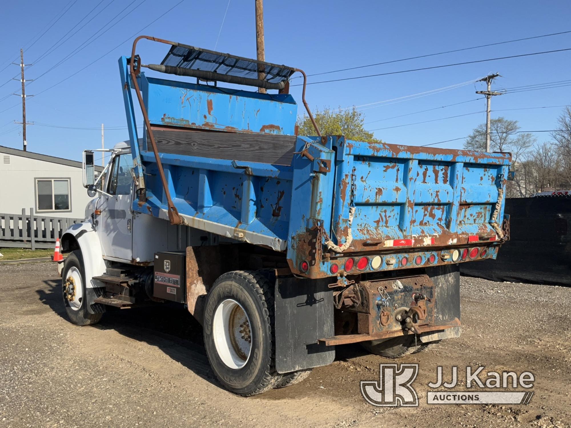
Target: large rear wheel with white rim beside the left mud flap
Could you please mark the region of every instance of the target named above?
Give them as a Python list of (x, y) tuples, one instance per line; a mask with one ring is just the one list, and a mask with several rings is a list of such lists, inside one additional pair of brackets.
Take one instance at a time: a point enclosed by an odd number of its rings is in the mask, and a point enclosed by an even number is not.
[(204, 304), (204, 345), (214, 374), (232, 393), (272, 389), (275, 371), (274, 288), (256, 272), (221, 275)]

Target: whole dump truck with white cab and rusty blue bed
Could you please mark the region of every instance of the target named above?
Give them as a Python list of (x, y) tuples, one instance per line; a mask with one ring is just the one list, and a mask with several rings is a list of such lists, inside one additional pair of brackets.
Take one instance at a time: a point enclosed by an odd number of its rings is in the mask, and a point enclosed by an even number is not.
[[(129, 140), (98, 176), (100, 150), (84, 152), (94, 199), (61, 237), (71, 322), (178, 302), (243, 396), (301, 381), (337, 345), (397, 358), (459, 337), (459, 264), (509, 238), (510, 154), (322, 135), (295, 67), (140, 36), (119, 69)], [(297, 135), (293, 74), (314, 136)]]

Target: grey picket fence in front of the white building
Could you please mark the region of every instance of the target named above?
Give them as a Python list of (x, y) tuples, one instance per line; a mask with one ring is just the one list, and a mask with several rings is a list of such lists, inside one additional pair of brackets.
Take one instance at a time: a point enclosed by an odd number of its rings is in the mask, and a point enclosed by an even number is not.
[(53, 248), (55, 240), (61, 238), (70, 225), (82, 221), (34, 215), (33, 208), (29, 214), (24, 208), (21, 214), (0, 213), (0, 247)]

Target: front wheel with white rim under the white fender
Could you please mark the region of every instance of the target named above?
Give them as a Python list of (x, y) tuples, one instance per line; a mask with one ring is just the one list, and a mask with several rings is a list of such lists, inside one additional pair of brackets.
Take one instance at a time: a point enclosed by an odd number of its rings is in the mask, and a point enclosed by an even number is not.
[(92, 325), (101, 320), (102, 314), (87, 310), (85, 269), (81, 251), (72, 251), (63, 265), (62, 297), (67, 317), (75, 325)]

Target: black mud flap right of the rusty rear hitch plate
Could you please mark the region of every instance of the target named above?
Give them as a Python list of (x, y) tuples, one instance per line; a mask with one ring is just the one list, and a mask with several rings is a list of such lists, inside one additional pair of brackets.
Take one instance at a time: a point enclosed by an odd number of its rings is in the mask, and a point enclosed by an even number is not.
[[(458, 318), (460, 321), (460, 267), (459, 265), (442, 265), (427, 268), (427, 274), (434, 282), (435, 324), (445, 325)], [(420, 334), (420, 341), (427, 343), (436, 340), (460, 337), (462, 327), (452, 327), (441, 332)]]

